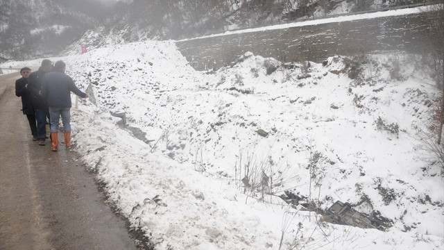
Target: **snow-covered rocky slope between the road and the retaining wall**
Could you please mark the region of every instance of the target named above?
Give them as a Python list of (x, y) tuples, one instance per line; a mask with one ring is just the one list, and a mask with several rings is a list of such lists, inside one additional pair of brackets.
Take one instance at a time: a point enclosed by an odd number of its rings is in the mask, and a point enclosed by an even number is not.
[[(148, 41), (61, 59), (94, 93), (72, 111), (73, 150), (155, 249), (444, 244), (442, 168), (419, 134), (439, 92), (415, 56), (282, 64), (246, 53), (205, 73), (173, 42)], [(386, 231), (324, 223), (284, 191), (321, 210), (374, 211)]]

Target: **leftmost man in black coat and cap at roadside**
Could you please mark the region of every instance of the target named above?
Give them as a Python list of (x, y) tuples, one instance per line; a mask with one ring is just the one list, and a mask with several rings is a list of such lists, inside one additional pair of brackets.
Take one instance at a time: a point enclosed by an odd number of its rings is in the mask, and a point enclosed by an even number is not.
[(20, 74), (22, 75), (22, 78), (15, 81), (15, 95), (17, 97), (22, 97), (22, 111), (23, 114), (28, 118), (31, 134), (33, 135), (33, 141), (36, 141), (37, 123), (35, 122), (33, 95), (31, 94), (31, 90), (28, 88), (28, 78), (31, 74), (31, 69), (28, 67), (23, 67), (20, 69)]

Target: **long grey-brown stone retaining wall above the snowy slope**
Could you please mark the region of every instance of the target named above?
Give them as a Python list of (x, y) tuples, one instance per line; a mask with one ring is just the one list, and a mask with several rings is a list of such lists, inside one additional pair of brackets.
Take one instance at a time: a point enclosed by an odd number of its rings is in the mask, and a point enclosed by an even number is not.
[(197, 70), (230, 65), (247, 51), (284, 63), (316, 63), (335, 55), (355, 56), (372, 51), (420, 53), (431, 39), (433, 15), (426, 13), (334, 22), (271, 31), (221, 35), (176, 42)]

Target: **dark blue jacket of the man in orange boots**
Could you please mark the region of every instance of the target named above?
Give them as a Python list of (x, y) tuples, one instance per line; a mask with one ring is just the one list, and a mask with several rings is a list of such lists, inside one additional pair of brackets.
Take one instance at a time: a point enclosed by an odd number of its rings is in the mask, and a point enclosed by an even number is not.
[(48, 106), (71, 108), (71, 92), (79, 97), (86, 97), (70, 76), (63, 72), (49, 72), (43, 78), (42, 95), (46, 97)]

